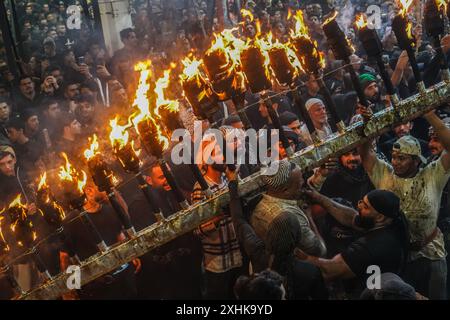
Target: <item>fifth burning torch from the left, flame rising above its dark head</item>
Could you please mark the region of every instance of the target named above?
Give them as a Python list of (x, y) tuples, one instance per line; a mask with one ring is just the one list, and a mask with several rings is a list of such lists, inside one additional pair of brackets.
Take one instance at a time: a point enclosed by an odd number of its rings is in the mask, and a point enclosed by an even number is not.
[(125, 228), (126, 234), (132, 238), (136, 235), (133, 225), (131, 224), (130, 216), (120, 205), (114, 194), (113, 172), (108, 164), (103, 159), (103, 156), (98, 152), (97, 135), (94, 134), (90, 140), (89, 149), (84, 151), (84, 157), (87, 160), (89, 172), (97, 185), (99, 191), (108, 194), (109, 202), (117, 214), (122, 226)]

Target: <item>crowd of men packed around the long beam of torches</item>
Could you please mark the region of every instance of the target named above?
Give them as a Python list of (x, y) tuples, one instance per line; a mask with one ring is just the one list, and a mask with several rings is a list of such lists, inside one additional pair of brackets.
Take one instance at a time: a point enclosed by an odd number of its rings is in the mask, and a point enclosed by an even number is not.
[[(111, 155), (109, 120), (129, 116), (138, 81), (134, 65), (150, 59), (155, 79), (171, 62), (189, 52), (201, 55), (214, 32), (223, 27), (215, 14), (215, 1), (167, 1), (155, 13), (150, 1), (136, 2), (133, 28), (120, 32), (123, 48), (112, 55), (101, 34), (83, 18), (80, 30), (66, 27), (67, 1), (17, 1), (21, 28), (20, 77), (3, 67), (0, 83), (0, 208), (7, 208), (18, 194), (33, 221), (39, 252), (52, 276), (73, 261), (71, 250), (52, 236), (55, 232), (36, 209), (39, 177), (48, 173), (48, 184), (66, 211), (64, 232), (76, 256), (84, 260), (97, 252), (96, 241), (71, 210), (65, 190), (59, 188), (57, 172), (65, 164), (61, 154), (76, 168), (84, 168), (83, 151), (88, 138), (100, 138), (102, 152), (114, 168), (119, 183), (119, 203), (136, 230), (153, 224), (150, 207), (132, 175)], [(419, 3), (420, 1), (417, 1)], [(367, 59), (350, 24), (357, 12), (379, 5), (384, 13), (379, 34), (383, 60), (399, 94), (407, 98), (418, 92), (405, 52), (397, 46), (390, 21), (396, 13), (387, 1), (246, 1), (246, 8), (261, 22), (261, 32), (272, 31), (280, 41), (288, 39), (290, 10), (302, 9), (311, 36), (326, 55), (325, 83), (332, 93), (339, 116), (346, 125), (370, 117), (390, 106), (389, 96), (376, 64)], [(229, 2), (225, 26), (239, 26), (240, 37), (255, 36), (255, 22), (239, 22), (239, 10)], [(352, 66), (358, 75), (370, 108), (358, 103), (343, 62), (334, 59), (321, 29), (324, 16), (338, 9), (338, 20), (353, 41)], [(417, 18), (417, 17), (416, 17)], [(418, 19), (417, 19), (418, 20)], [(440, 80), (440, 62), (420, 21), (414, 23), (418, 39), (417, 61), (426, 86)], [(240, 24), (239, 24), (240, 23)], [(450, 37), (443, 37), (448, 55)], [(174, 70), (180, 71), (181, 64)], [(173, 72), (177, 74), (177, 72)], [(302, 75), (299, 94), (317, 136), (326, 140), (335, 130), (319, 84)], [(178, 83), (176, 79), (172, 81)], [(286, 88), (275, 85), (273, 95)], [(180, 122), (190, 128), (195, 116), (182, 98), (181, 87), (171, 87), (180, 99)], [(274, 129), (268, 108), (258, 94), (245, 96), (246, 115), (255, 129)], [(225, 137), (244, 128), (233, 114), (233, 103), (220, 103), (215, 119)], [(295, 151), (313, 144), (305, 119), (294, 104), (292, 92), (272, 98), (286, 137)], [(262, 194), (242, 199), (239, 183), (259, 167), (240, 165), (236, 170), (222, 164), (217, 141), (204, 136), (201, 150), (213, 150), (213, 164), (199, 168), (213, 192), (228, 188), (230, 204), (194, 232), (135, 259), (63, 296), (64, 299), (447, 299), (447, 250), (450, 232), (450, 118), (446, 106), (423, 118), (398, 124), (374, 141), (329, 159), (312, 172), (302, 172), (289, 162), (280, 142), (276, 145), (279, 169), (264, 176)], [(203, 121), (203, 130), (210, 124)], [(139, 137), (130, 130), (139, 147)], [(109, 146), (109, 147), (108, 147)], [(182, 194), (190, 204), (207, 199), (185, 165), (170, 162)], [(230, 148), (243, 145), (231, 143)], [(109, 148), (109, 149), (108, 149)], [(248, 151), (248, 149), (247, 149)], [(272, 150), (273, 151), (273, 150)], [(165, 217), (180, 211), (179, 199), (155, 157), (142, 150), (142, 171)], [(126, 183), (125, 183), (126, 182)], [(104, 192), (88, 179), (84, 188), (87, 212), (107, 246), (126, 239), (121, 221)], [(123, 200), (123, 201), (122, 201)], [(1, 265), (11, 265), (24, 290), (45, 281), (11, 232), (10, 217), (2, 213), (2, 238), (9, 251), (1, 254)], [(368, 268), (381, 270), (381, 289), (367, 288)], [(370, 269), (370, 268), (369, 268)], [(17, 292), (6, 273), (0, 277), (0, 296)]]

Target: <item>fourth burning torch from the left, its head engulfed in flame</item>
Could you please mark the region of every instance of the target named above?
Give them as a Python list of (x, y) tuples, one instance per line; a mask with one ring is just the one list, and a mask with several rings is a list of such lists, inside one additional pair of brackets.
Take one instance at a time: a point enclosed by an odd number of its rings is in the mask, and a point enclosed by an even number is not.
[[(60, 167), (58, 173), (59, 179), (62, 183), (62, 188), (65, 191), (65, 196), (69, 200), (70, 207), (74, 210), (81, 211), (86, 201), (86, 196), (84, 194), (84, 187), (87, 182), (86, 172), (83, 170), (81, 172), (76, 170), (71, 165), (67, 155), (64, 152), (61, 153), (61, 156), (65, 160), (65, 164)], [(80, 220), (94, 237), (97, 249), (100, 252), (106, 252), (108, 250), (108, 246), (102, 239), (100, 232), (95, 227), (95, 224), (92, 222), (89, 215), (80, 214)]]

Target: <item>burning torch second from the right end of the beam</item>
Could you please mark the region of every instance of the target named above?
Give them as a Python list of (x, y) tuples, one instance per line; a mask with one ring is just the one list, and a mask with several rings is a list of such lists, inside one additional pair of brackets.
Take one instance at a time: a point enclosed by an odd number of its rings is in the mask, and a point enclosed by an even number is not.
[(413, 47), (416, 46), (416, 39), (412, 34), (412, 23), (408, 20), (407, 11), (410, 8), (413, 0), (400, 0), (401, 10), (392, 21), (392, 30), (397, 38), (398, 46), (402, 50), (406, 50), (408, 54), (409, 63), (413, 70), (414, 78), (417, 82), (417, 87), (420, 93), (425, 92), (425, 84), (422, 81), (422, 75), (417, 65), (416, 57), (414, 55)]

